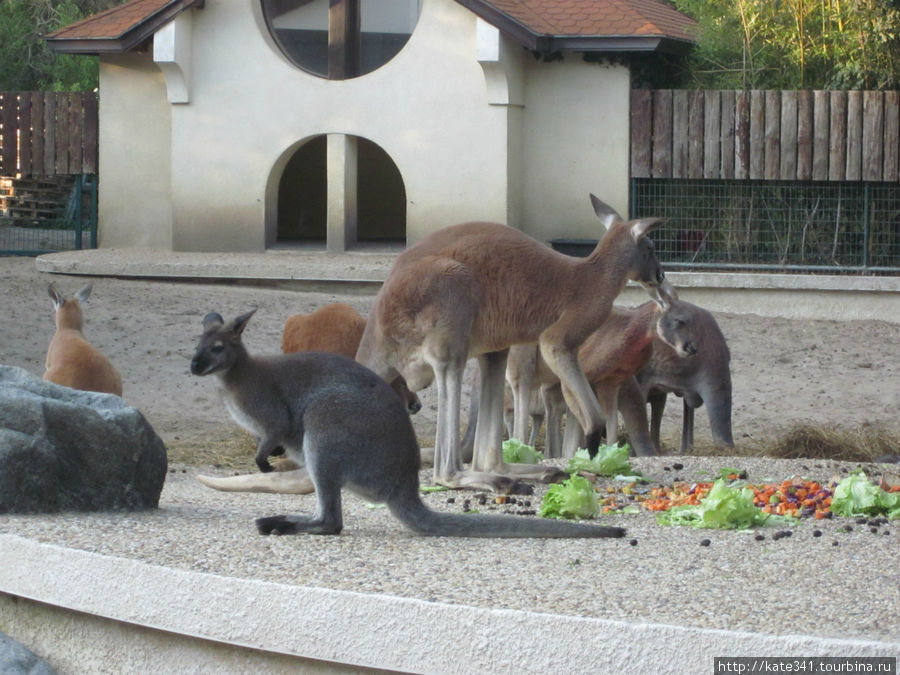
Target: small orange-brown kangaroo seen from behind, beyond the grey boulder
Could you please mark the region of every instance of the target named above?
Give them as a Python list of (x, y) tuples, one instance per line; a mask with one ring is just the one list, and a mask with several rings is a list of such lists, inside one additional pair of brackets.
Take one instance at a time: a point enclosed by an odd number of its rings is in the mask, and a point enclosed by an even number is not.
[(122, 377), (109, 359), (84, 337), (81, 303), (90, 297), (92, 284), (66, 299), (50, 284), (48, 293), (56, 312), (56, 332), (47, 348), (44, 379), (83, 391), (122, 395)]

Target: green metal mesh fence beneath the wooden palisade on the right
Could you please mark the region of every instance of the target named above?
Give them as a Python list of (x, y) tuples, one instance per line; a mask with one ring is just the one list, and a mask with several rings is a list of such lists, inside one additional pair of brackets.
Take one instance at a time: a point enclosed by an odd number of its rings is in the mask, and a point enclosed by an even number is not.
[(900, 273), (900, 185), (634, 179), (670, 268)]

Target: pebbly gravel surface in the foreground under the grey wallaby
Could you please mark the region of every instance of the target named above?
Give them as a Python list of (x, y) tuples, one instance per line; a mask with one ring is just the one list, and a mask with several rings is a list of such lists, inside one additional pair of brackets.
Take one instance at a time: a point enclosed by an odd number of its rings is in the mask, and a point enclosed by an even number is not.
[[(676, 463), (683, 468), (674, 469)], [(675, 478), (710, 480), (725, 466), (745, 469), (751, 481), (793, 475), (826, 480), (856, 467), (705, 457), (635, 459), (633, 466), (651, 483), (667, 485)], [(891, 467), (864, 468), (875, 474)], [(900, 521), (874, 530), (854, 519), (834, 518), (722, 531), (660, 525), (644, 511), (600, 517), (604, 524), (627, 528), (624, 539), (465, 540), (413, 535), (387, 509), (346, 495), (340, 536), (262, 537), (255, 532), (255, 517), (309, 512), (314, 497), (216, 492), (195, 479), (211, 471), (172, 466), (156, 511), (3, 515), (0, 532), (278, 583), (575, 616), (900, 642)], [(423, 482), (428, 477), (423, 472)], [(517, 497), (520, 503), (496, 511), (533, 510), (543, 491), (538, 486), (535, 495)], [(477, 493), (436, 492), (424, 498), (438, 510), (461, 511), (465, 499), (481, 512), (492, 510), (490, 499), (478, 504)], [(783, 531), (791, 536), (775, 537)]]

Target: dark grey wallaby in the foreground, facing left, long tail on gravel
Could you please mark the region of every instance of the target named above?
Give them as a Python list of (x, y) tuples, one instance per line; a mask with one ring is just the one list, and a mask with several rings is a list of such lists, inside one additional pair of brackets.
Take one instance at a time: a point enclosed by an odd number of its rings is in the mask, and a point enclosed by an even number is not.
[(232, 417), (259, 439), (256, 463), (274, 448), (309, 471), (311, 516), (258, 518), (261, 534), (338, 534), (341, 489), (386, 503), (412, 531), (455, 537), (622, 537), (625, 530), (516, 516), (438, 513), (419, 496), (419, 444), (400, 398), (368, 368), (337, 354), (251, 356), (241, 341), (252, 310), (225, 323), (203, 319), (194, 375), (215, 375)]

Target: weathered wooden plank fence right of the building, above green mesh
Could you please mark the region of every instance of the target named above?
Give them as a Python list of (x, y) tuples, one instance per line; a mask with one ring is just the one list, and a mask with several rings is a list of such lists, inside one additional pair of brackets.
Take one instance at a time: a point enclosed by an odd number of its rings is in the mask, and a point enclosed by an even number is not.
[(633, 178), (900, 181), (900, 92), (631, 93)]

